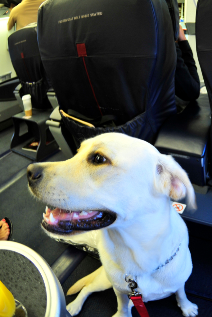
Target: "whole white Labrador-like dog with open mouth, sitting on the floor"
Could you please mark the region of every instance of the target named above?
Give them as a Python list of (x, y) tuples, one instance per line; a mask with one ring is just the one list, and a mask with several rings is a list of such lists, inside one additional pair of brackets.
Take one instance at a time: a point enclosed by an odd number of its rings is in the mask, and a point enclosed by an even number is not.
[[(70, 160), (29, 165), (28, 179), (38, 198), (57, 207), (47, 207), (42, 221), (50, 236), (77, 242), (76, 234), (84, 232), (92, 244), (95, 233), (103, 267), (70, 289), (72, 294), (82, 289), (67, 306), (72, 315), (91, 292), (113, 286), (118, 301), (114, 317), (127, 317), (126, 274), (137, 277), (143, 301), (175, 293), (184, 316), (198, 314), (184, 291), (192, 271), (188, 230), (170, 203), (170, 197), (187, 195), (194, 209), (195, 193), (171, 156), (140, 139), (106, 133), (82, 142)], [(93, 229), (100, 230), (84, 231)]]

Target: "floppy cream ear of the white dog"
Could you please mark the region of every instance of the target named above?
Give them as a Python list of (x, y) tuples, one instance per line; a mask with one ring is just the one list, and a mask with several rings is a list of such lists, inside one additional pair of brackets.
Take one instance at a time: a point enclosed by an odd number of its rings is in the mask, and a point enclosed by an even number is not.
[(197, 209), (194, 188), (188, 175), (171, 155), (159, 156), (156, 166), (156, 188), (174, 200), (186, 196), (188, 209)]

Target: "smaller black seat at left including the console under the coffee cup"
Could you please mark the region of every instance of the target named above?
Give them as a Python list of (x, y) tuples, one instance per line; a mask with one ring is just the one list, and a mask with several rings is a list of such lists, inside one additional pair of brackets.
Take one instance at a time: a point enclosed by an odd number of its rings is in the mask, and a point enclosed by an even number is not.
[[(53, 109), (47, 93), (51, 88), (38, 48), (37, 23), (31, 23), (17, 30), (8, 38), (10, 58), (20, 79), (15, 89), (15, 96), (24, 110), (22, 96), (31, 95), (32, 116), (26, 117), (24, 112), (12, 117), (14, 134), (10, 149), (33, 161), (40, 161), (58, 149), (49, 127), (45, 124)], [(20, 127), (25, 125), (26, 133), (20, 133)], [(32, 144), (37, 144), (34, 151), (28, 150)]]

